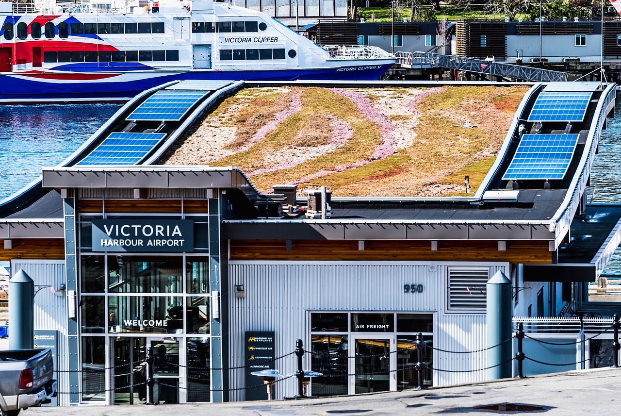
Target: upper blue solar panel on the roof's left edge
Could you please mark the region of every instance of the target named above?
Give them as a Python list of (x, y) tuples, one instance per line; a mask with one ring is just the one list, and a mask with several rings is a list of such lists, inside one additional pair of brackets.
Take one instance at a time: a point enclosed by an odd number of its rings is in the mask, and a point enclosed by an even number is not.
[(209, 91), (157, 91), (148, 97), (127, 120), (178, 121)]

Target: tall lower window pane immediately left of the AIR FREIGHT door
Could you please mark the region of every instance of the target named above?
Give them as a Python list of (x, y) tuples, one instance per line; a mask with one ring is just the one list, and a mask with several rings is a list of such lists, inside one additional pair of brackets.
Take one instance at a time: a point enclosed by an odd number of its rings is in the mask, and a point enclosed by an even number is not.
[(347, 335), (312, 335), (312, 396), (347, 394)]

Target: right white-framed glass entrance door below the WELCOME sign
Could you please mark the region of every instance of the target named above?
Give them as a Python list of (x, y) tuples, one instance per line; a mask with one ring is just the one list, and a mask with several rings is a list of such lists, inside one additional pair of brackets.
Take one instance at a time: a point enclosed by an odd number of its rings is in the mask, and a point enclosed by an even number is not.
[(153, 348), (153, 402), (160, 404), (179, 403), (179, 338), (148, 338)]

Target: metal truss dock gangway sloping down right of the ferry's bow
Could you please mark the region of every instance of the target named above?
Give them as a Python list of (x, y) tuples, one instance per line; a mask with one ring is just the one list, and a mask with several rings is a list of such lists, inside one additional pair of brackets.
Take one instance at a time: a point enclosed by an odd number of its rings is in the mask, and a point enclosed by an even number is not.
[(396, 52), (395, 56), (397, 57), (397, 64), (402, 68), (446, 68), (447, 70), (489, 75), (490, 78), (496, 76), (542, 83), (572, 81), (566, 72), (492, 60), (456, 57), (455, 55), (442, 55), (442, 53), (432, 52)]

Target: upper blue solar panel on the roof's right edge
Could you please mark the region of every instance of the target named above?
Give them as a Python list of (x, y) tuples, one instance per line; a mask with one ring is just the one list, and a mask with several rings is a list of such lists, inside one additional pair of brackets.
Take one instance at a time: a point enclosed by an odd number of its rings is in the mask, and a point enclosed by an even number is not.
[(592, 95), (591, 91), (543, 91), (528, 121), (582, 121)]

